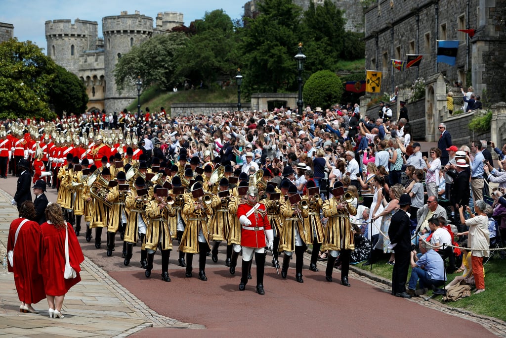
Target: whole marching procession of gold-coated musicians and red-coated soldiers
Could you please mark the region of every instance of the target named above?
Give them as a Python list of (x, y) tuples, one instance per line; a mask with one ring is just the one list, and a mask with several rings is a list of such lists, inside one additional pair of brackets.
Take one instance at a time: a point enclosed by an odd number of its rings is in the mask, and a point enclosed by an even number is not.
[[(310, 270), (318, 272), (316, 258), (320, 247), (329, 250), (325, 275), (331, 281), (333, 262), (341, 252), (342, 284), (349, 286), (345, 265), (349, 265), (349, 252), (354, 249), (349, 216), (356, 209), (346, 193), (333, 191), (334, 197), (323, 201), (319, 188), (308, 186), (305, 195), (300, 195), (288, 179), (279, 186), (270, 181), (267, 169), (234, 177), (232, 167), (213, 163), (209, 152), (203, 154), (202, 166), (196, 156), (187, 163), (185, 153), (174, 164), (157, 158), (148, 162), (137, 146), (136, 136), (130, 134), (123, 139), (121, 133), (114, 131), (94, 135), (91, 130), (86, 135), (72, 129), (64, 133), (57, 132), (50, 123), (42, 135), (34, 124), (27, 129), (24, 132), (25, 126), (13, 124), (7, 133), (2, 126), (0, 159), (27, 159), (34, 171), (34, 183), (40, 179), (57, 187), (58, 203), (76, 235), (84, 216), (86, 240), (94, 238), (97, 249), (104, 248), (102, 230), (106, 228), (108, 257), (119, 256), (114, 254), (117, 234), (123, 242), (121, 257), (125, 266), (130, 265), (133, 246), (140, 242), (140, 264), (147, 278), (159, 249), (161, 279), (171, 281), (169, 258), (173, 241), (177, 240), (178, 265), (186, 268), (186, 277), (193, 276), (193, 255), (198, 253), (198, 279), (205, 281), (208, 252), (212, 261), (218, 262), (218, 249), (224, 243), (225, 265), (232, 275), (242, 251), (239, 290), (244, 290), (251, 278), (255, 257), (256, 291), (264, 294), (267, 252), (272, 251), (276, 270), (280, 268), (278, 255), (283, 253), (282, 278), (287, 278), (295, 252), (296, 280), (303, 283), (304, 252), (312, 245)], [(2, 177), (9, 167), (10, 163), (0, 161)], [(12, 168), (16, 170), (15, 165)], [(329, 218), (325, 228), (321, 214)]]

